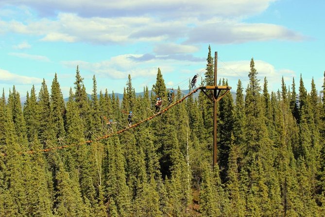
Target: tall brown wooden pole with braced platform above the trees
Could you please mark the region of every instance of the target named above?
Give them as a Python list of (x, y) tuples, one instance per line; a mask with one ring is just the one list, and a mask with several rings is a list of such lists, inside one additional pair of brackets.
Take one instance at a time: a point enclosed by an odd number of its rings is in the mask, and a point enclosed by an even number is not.
[[(217, 86), (217, 62), (218, 52), (214, 53), (214, 83), (213, 86), (200, 87), (200, 90), (212, 101), (213, 103), (213, 168), (217, 164), (217, 103), (222, 97), (231, 90), (229, 86)], [(213, 92), (206, 92), (206, 90), (213, 90)], [(220, 92), (223, 90), (222, 94)], [(220, 96), (219, 96), (220, 95)]]

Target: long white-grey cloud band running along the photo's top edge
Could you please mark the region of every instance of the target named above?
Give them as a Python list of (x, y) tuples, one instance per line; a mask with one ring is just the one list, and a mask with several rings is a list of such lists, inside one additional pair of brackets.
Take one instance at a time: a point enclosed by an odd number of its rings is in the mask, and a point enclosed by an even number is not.
[[(57, 11), (75, 13), (82, 17), (125, 17), (150, 14), (163, 19), (179, 17), (226, 16), (242, 17), (258, 14), (275, 0), (2, 0), (0, 5), (27, 5), (42, 16), (53, 16)], [(51, 7), (49, 7), (51, 5)], [(252, 6), (254, 5), (254, 6)]]

